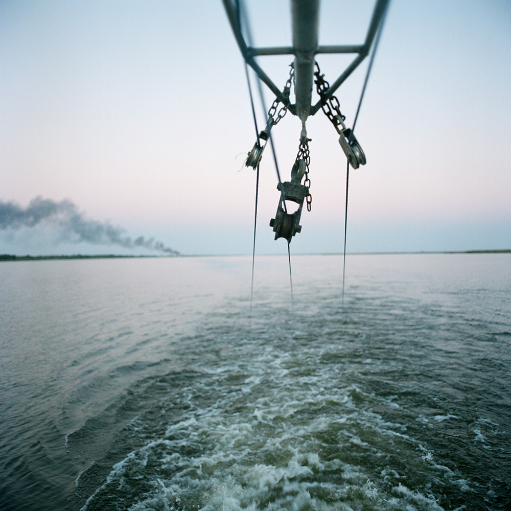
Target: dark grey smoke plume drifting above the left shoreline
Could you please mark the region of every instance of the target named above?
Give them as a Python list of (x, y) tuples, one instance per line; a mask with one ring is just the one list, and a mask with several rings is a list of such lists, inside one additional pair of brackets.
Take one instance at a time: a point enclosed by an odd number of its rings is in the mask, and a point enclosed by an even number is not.
[(125, 235), (126, 229), (122, 227), (113, 226), (108, 222), (88, 220), (69, 200), (55, 202), (38, 196), (32, 199), (26, 208), (15, 202), (0, 201), (0, 229), (16, 230), (21, 227), (43, 227), (49, 224), (59, 227), (60, 241), (95, 245), (115, 244), (124, 248), (142, 247), (169, 254), (179, 253), (154, 238), (146, 239), (139, 236), (132, 240)]

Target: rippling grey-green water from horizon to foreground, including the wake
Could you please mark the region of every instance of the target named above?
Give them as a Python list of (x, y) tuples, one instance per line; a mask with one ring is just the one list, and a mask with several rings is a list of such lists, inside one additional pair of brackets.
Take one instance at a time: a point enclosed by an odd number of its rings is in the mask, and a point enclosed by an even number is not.
[(0, 264), (0, 508), (511, 508), (511, 254)]

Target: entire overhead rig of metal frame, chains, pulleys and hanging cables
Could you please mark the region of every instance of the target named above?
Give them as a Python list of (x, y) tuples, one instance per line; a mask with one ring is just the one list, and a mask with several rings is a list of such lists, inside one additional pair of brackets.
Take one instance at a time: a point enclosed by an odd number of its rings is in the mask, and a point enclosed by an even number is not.
[[(267, 127), (261, 133), (258, 134), (257, 122), (255, 122), (255, 113), (253, 108), (252, 95), (250, 91), (250, 99), (252, 102), (252, 113), (254, 115), (255, 132), (257, 141), (254, 144), (252, 150), (248, 153), (246, 160), (246, 166), (257, 168), (259, 183), (259, 162), (262, 158), (262, 153), (266, 147), (268, 140), (273, 152), (273, 159), (275, 162), (275, 170), (278, 178), (277, 189), (281, 191), (280, 201), (277, 207), (277, 213), (275, 218), (271, 219), (270, 226), (275, 231), (275, 239), (285, 238), (288, 241), (288, 259), (289, 259), (289, 276), (291, 283), (291, 300), (292, 300), (292, 278), (291, 278), (291, 254), (290, 254), (290, 241), (292, 237), (300, 232), (301, 226), (299, 225), (301, 210), (303, 203), (307, 197), (307, 209), (310, 211), (312, 196), (309, 193), (310, 179), (309, 173), (309, 151), (307, 133), (305, 130), (305, 122), (309, 115), (314, 115), (319, 108), (329, 117), (333, 123), (336, 131), (339, 134), (339, 144), (347, 158), (346, 165), (346, 203), (345, 203), (345, 217), (344, 217), (344, 260), (343, 260), (343, 278), (342, 278), (342, 297), (344, 299), (344, 269), (345, 269), (345, 256), (346, 256), (346, 224), (347, 224), (347, 198), (348, 198), (348, 182), (349, 182), (349, 170), (350, 165), (357, 169), (360, 165), (365, 165), (366, 158), (362, 150), (362, 147), (358, 143), (354, 136), (355, 125), (357, 122), (362, 98), (364, 96), (365, 86), (369, 77), (371, 65), (374, 60), (376, 48), (378, 47), (378, 40), (382, 32), (382, 26), (385, 19), (386, 11), (390, 0), (376, 0), (375, 8), (373, 10), (373, 16), (371, 17), (365, 41), (363, 44), (349, 44), (349, 45), (319, 45), (318, 43), (318, 19), (319, 19), (319, 4), (320, 0), (290, 0), (291, 1), (291, 12), (292, 12), (292, 46), (291, 47), (275, 47), (275, 48), (254, 48), (250, 26), (247, 18), (246, 11), (243, 11), (245, 18), (245, 28), (247, 32), (248, 45), (245, 41), (245, 37), (242, 33), (241, 27), (241, 9), (240, 4), (242, 0), (222, 0), (227, 17), (230, 25), (233, 28), (233, 32), (241, 50), (245, 64), (252, 67), (253, 71), (258, 75), (258, 87), (261, 96), (261, 102), (264, 108), (264, 98), (261, 88), (261, 82), (264, 82), (269, 89), (275, 95), (275, 101), (273, 102), (272, 108), (268, 111), (267, 115)], [(375, 41), (376, 38), (376, 41)], [(339, 101), (334, 96), (334, 92), (337, 88), (353, 73), (358, 65), (365, 59), (369, 54), (371, 46), (374, 44), (373, 54), (370, 58), (367, 74), (365, 77), (362, 94), (353, 122), (353, 127), (347, 128), (344, 124), (345, 117), (340, 112)], [(354, 60), (349, 64), (341, 75), (334, 81), (332, 85), (329, 85), (324, 80), (324, 75), (320, 74), (319, 66), (315, 60), (315, 55), (321, 53), (352, 53), (357, 54)], [(255, 61), (255, 57), (258, 55), (294, 55), (294, 63), (291, 67), (291, 73), (284, 92), (281, 92), (272, 80), (266, 75), (263, 69)], [(314, 72), (314, 66), (317, 67), (317, 72)], [(245, 66), (246, 69), (246, 66)], [(314, 80), (314, 76), (316, 80)], [(248, 79), (248, 73), (247, 73)], [(289, 90), (291, 82), (294, 81), (294, 95), (295, 103), (291, 104), (289, 101)], [(312, 84), (316, 83), (317, 92), (319, 95), (319, 101), (312, 105)], [(249, 83), (250, 90), (250, 83)], [(276, 112), (277, 105), (282, 103), (283, 106)], [(272, 110), (273, 109), (273, 110)], [(302, 134), (300, 137), (300, 150), (298, 152), (295, 165), (291, 171), (291, 181), (282, 182), (280, 172), (278, 171), (277, 159), (275, 154), (275, 148), (273, 140), (270, 135), (270, 130), (273, 124), (276, 124), (282, 117), (284, 117), (287, 110), (290, 110), (293, 115), (297, 115), (302, 122)], [(334, 114), (335, 112), (335, 114)], [(276, 117), (275, 117), (276, 115)], [(305, 135), (304, 135), (305, 133)], [(305, 136), (305, 141), (304, 141)], [(264, 141), (264, 145), (260, 141)], [(305, 144), (302, 148), (301, 144)], [(304, 184), (301, 184), (301, 180), (306, 176)], [(286, 195), (288, 200), (294, 201), (298, 204), (298, 210), (289, 214), (286, 206)], [(253, 288), (253, 259), (255, 254), (255, 220), (257, 220), (257, 196), (258, 196), (258, 184), (256, 184), (256, 199), (255, 199), (255, 218), (254, 218), (254, 248), (252, 251), (252, 288)], [(252, 292), (251, 292), (252, 296)], [(252, 297), (251, 297), (252, 300)], [(251, 301), (250, 301), (251, 303)]]

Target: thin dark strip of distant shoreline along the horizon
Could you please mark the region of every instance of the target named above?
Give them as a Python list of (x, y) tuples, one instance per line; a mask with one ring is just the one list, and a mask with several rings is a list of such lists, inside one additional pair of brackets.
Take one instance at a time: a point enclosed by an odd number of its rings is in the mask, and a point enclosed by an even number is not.
[[(511, 253), (511, 248), (494, 249), (494, 250), (434, 250), (434, 251), (418, 251), (418, 252), (349, 252), (347, 255), (398, 255), (398, 254), (479, 254), (479, 253)], [(141, 259), (141, 258), (175, 258), (175, 257), (240, 257), (243, 254), (199, 254), (199, 255), (121, 255), (121, 254), (96, 254), (96, 255), (15, 255), (0, 254), (0, 262), (2, 261), (52, 261), (61, 259)], [(245, 254), (246, 255), (246, 254)], [(278, 255), (278, 254), (261, 254), (261, 255)], [(342, 255), (337, 253), (317, 253), (317, 254), (295, 254), (295, 255)]]

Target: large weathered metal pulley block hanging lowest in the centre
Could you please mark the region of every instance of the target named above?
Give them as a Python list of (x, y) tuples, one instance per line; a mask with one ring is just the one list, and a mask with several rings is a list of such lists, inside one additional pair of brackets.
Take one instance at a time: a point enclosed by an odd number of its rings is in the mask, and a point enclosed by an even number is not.
[[(304, 205), (304, 199), (309, 195), (309, 188), (303, 184), (285, 181), (278, 183), (277, 189), (281, 190), (281, 198), (278, 201), (277, 212), (275, 218), (270, 220), (270, 227), (273, 227), (275, 240), (277, 238), (285, 238), (291, 243), (293, 236), (301, 232), (300, 216), (301, 209)], [(292, 201), (298, 204), (298, 209), (294, 213), (286, 213), (283, 202)]]

